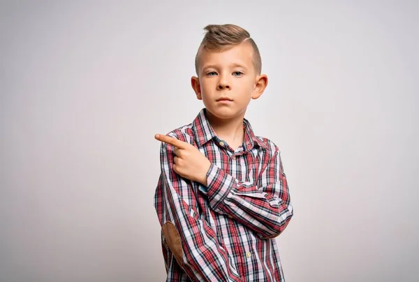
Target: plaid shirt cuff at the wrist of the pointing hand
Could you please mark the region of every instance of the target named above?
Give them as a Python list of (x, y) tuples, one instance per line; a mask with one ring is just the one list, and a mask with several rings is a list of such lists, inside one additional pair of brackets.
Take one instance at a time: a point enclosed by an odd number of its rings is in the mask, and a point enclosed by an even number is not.
[(214, 164), (207, 172), (207, 197), (212, 209), (223, 202), (234, 185), (234, 178)]

